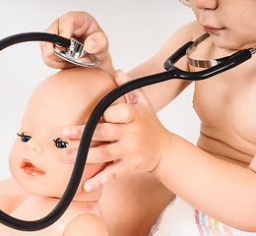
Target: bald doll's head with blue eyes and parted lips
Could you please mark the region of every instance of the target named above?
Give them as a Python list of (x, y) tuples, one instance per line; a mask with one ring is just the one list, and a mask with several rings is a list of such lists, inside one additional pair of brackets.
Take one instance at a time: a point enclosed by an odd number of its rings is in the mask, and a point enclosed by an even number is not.
[[(45, 79), (33, 90), (21, 129), (10, 152), (14, 179), (30, 194), (60, 198), (73, 164), (64, 161), (66, 148), (79, 141), (62, 138), (66, 126), (86, 124), (97, 102), (116, 87), (112, 77), (100, 69), (69, 69)], [(91, 146), (98, 144), (92, 143)], [(95, 199), (83, 191), (83, 183), (105, 164), (87, 164), (77, 199)]]

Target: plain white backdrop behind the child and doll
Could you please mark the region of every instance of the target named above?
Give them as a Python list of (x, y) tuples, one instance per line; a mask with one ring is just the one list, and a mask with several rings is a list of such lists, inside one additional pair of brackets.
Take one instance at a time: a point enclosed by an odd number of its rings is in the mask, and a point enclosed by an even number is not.
[[(16, 0), (2, 1), (0, 38), (42, 31), (68, 11), (88, 11), (109, 38), (116, 69), (129, 71), (153, 56), (176, 29), (194, 20), (178, 0)], [(32, 89), (56, 72), (46, 67), (38, 43), (12, 46), (0, 55), (0, 180), (10, 176), (8, 155)], [(196, 144), (199, 120), (192, 109), (193, 86), (159, 113), (173, 133)]]

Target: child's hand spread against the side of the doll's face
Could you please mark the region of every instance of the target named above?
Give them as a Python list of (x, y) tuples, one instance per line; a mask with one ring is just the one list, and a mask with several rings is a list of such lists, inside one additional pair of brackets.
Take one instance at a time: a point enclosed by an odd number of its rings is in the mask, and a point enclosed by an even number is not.
[[(115, 81), (121, 85), (129, 78), (117, 71)], [(88, 162), (113, 162), (86, 182), (88, 192), (126, 174), (154, 170), (168, 151), (169, 132), (142, 89), (125, 96), (127, 103), (108, 107), (103, 115), (105, 123), (96, 127), (93, 140), (108, 143), (90, 148)]]

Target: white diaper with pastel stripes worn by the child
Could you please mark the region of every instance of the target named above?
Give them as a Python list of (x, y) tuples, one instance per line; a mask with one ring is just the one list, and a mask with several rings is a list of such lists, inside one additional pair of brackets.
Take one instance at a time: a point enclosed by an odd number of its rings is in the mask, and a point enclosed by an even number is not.
[(161, 212), (149, 236), (256, 236), (256, 233), (224, 225), (176, 197)]

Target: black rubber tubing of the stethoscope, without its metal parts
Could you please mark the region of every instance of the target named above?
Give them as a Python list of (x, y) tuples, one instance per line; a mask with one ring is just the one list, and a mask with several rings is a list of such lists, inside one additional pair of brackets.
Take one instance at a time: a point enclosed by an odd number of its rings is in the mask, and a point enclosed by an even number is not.
[[(11, 46), (13, 44), (25, 41), (49, 41), (64, 47), (67, 47), (70, 44), (69, 39), (55, 34), (46, 32), (29, 32), (16, 34), (0, 40), (0, 50), (3, 50), (4, 48)], [(220, 74), (226, 70), (229, 70), (251, 58), (250, 51), (248, 49), (245, 49), (232, 55), (230, 58), (228, 58), (227, 61), (224, 61), (223, 63), (216, 65), (212, 68), (209, 68), (207, 70), (199, 72), (182, 71), (173, 66), (173, 64), (185, 55), (185, 51), (187, 47), (191, 45), (191, 43), (193, 42), (188, 42), (185, 45), (183, 45), (165, 61), (164, 68), (167, 70), (166, 72), (161, 72), (156, 75), (150, 75), (128, 82), (122, 86), (117, 87), (116, 89), (111, 90), (98, 102), (84, 129), (77, 158), (74, 164), (73, 172), (67, 185), (67, 188), (59, 203), (56, 207), (52, 209), (51, 212), (49, 212), (46, 216), (44, 216), (41, 219), (29, 221), (15, 218), (0, 210), (0, 222), (18, 230), (35, 231), (48, 227), (49, 225), (53, 224), (56, 220), (58, 220), (58, 218), (61, 217), (61, 215), (65, 212), (67, 207), (69, 207), (69, 205), (71, 204), (76, 194), (77, 188), (80, 184), (81, 177), (83, 175), (84, 168), (86, 165), (87, 155), (92, 141), (92, 137), (96, 129), (96, 125), (100, 117), (106, 110), (106, 108), (120, 96), (134, 89), (141, 89), (146, 86), (150, 86), (172, 79), (180, 79), (186, 81), (205, 80), (217, 74)]]

